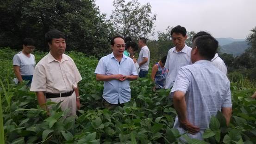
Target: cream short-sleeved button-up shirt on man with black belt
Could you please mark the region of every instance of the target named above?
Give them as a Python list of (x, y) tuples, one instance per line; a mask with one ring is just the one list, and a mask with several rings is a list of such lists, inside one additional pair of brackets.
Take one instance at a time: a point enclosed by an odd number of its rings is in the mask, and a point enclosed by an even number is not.
[(30, 90), (68, 92), (77, 88), (81, 79), (75, 62), (68, 55), (62, 54), (62, 60), (58, 61), (49, 53), (37, 63)]

